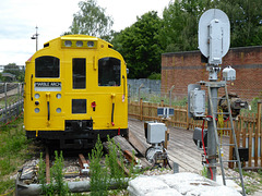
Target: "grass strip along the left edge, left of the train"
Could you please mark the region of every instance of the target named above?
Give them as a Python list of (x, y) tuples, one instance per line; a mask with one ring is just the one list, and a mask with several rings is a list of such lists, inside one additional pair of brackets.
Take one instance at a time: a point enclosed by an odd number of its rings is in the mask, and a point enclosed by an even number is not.
[(14, 179), (20, 167), (28, 159), (27, 145), (23, 130), (23, 117), (0, 127), (0, 195), (9, 193), (15, 186)]

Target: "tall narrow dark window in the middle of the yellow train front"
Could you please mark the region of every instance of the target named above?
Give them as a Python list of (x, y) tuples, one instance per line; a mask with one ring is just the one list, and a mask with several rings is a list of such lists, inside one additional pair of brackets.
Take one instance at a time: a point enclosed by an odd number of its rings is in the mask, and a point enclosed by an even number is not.
[(83, 89), (86, 84), (85, 59), (73, 59), (73, 88)]

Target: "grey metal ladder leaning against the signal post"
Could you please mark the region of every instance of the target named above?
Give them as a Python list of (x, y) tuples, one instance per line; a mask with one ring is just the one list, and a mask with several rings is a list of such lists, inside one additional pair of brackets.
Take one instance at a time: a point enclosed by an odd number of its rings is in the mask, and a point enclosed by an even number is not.
[[(225, 82), (225, 83), (222, 83), (222, 85), (219, 86), (219, 87), (225, 88), (226, 97), (223, 97), (223, 98), (212, 97), (212, 94), (211, 94), (212, 84), (211, 84), (211, 83), (207, 83), (206, 86), (207, 86), (207, 90), (209, 90), (209, 100), (210, 100), (212, 120), (213, 120), (214, 132), (215, 132), (216, 147), (217, 147), (217, 149), (218, 149), (219, 164), (216, 164), (216, 167), (217, 167), (217, 166), (221, 167), (222, 176), (223, 176), (223, 184), (226, 185), (226, 180), (227, 180), (227, 179), (230, 179), (230, 180), (239, 179), (240, 182), (241, 182), (241, 186), (242, 186), (242, 195), (246, 196), (246, 191), (245, 191), (245, 186), (243, 186), (243, 176), (242, 176), (241, 162), (240, 162), (239, 152), (238, 152), (237, 138), (236, 138), (235, 128), (234, 128), (234, 123), (233, 123), (231, 108), (230, 108), (230, 101), (229, 101), (229, 98), (228, 98), (228, 91), (227, 91), (226, 82)], [(226, 100), (226, 103), (227, 103), (228, 112), (214, 112), (213, 99), (225, 99), (225, 100)], [(217, 128), (217, 125), (216, 125), (216, 115), (217, 115), (217, 114), (226, 114), (226, 115), (229, 115), (230, 127), (227, 128), (227, 130), (231, 131), (231, 135), (233, 135), (233, 138), (234, 138), (234, 144), (219, 144), (217, 131), (222, 131), (222, 130), (225, 130), (225, 128), (223, 128), (223, 127), (222, 127), (222, 128), (221, 128), (221, 127)], [(221, 150), (222, 146), (234, 147), (236, 160), (223, 160), (222, 150)], [(224, 166), (223, 166), (224, 162), (237, 163), (237, 164), (238, 164), (238, 170), (239, 170), (239, 176), (238, 176), (238, 177), (226, 177), (226, 176), (225, 176), (225, 171), (224, 171)]]

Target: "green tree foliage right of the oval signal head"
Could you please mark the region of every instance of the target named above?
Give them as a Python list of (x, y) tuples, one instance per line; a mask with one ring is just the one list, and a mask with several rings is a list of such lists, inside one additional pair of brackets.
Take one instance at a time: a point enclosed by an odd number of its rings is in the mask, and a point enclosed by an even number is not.
[(230, 21), (231, 47), (262, 45), (261, 0), (217, 0)]

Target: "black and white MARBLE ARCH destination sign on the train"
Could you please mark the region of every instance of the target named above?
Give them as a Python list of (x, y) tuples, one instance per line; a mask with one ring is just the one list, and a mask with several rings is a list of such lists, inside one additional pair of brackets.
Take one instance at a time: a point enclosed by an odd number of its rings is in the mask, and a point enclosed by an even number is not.
[(35, 82), (35, 91), (61, 91), (60, 82)]

